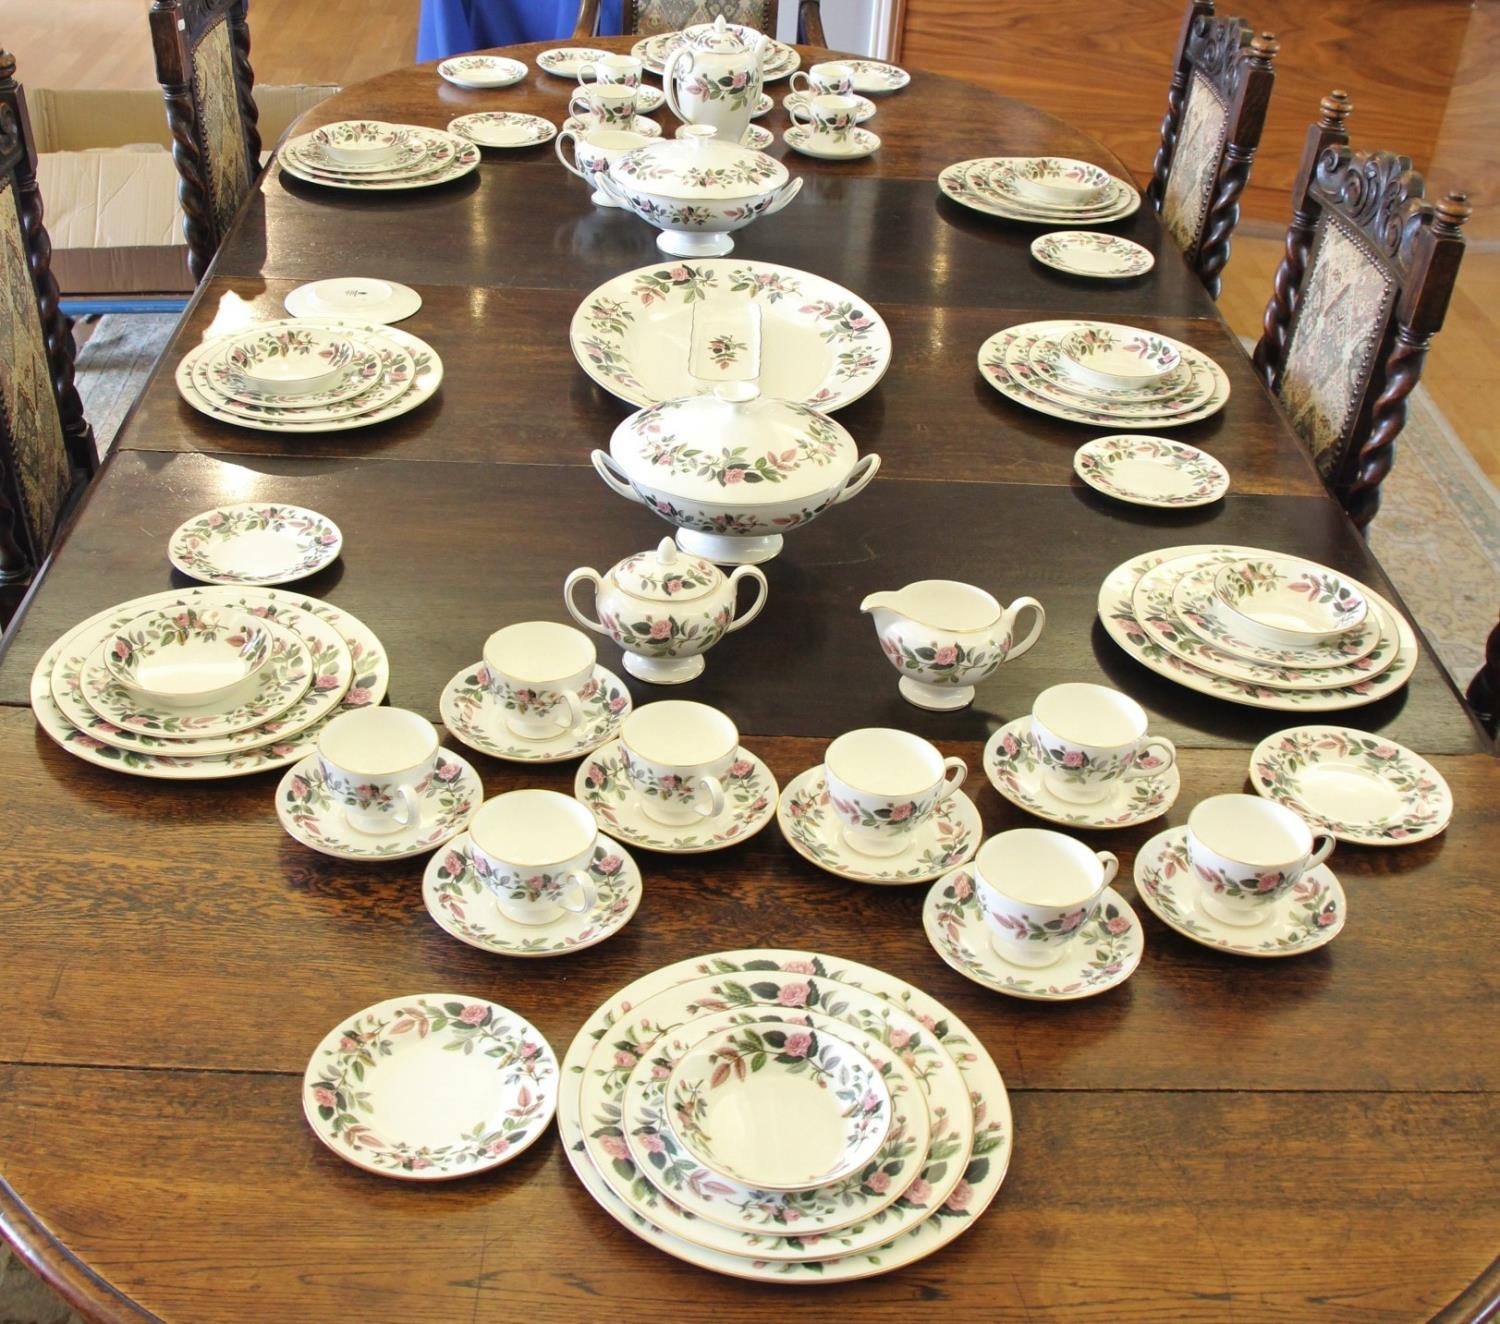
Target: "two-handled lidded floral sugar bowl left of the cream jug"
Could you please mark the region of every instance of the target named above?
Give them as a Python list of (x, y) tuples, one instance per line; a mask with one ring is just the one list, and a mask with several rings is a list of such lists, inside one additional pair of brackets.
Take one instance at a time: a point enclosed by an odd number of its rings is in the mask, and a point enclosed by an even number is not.
[[(760, 591), (735, 615), (742, 579), (754, 580)], [(597, 621), (573, 601), (574, 586), (585, 580), (594, 585)], [(765, 574), (754, 565), (741, 565), (726, 577), (712, 561), (684, 553), (670, 537), (603, 576), (580, 565), (562, 585), (573, 619), (614, 639), (626, 651), (626, 670), (652, 685), (681, 685), (702, 675), (704, 654), (759, 616), (765, 592)]]

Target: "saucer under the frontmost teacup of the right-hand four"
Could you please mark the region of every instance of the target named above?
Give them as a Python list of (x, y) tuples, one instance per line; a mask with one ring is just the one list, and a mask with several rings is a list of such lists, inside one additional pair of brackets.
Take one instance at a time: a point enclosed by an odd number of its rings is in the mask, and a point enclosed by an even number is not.
[(1094, 919), (1053, 966), (1016, 966), (994, 951), (990, 925), (966, 870), (933, 883), (922, 904), (922, 928), (954, 970), (975, 984), (1028, 1002), (1077, 1002), (1124, 984), (1136, 973), (1146, 934), (1136, 912), (1113, 888), (1104, 889)]

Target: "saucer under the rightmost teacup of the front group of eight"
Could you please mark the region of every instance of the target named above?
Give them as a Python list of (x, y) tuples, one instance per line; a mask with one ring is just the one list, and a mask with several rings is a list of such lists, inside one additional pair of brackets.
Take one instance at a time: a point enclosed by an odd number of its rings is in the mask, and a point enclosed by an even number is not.
[(1158, 832), (1136, 853), (1136, 891), (1168, 928), (1236, 957), (1296, 957), (1330, 943), (1344, 928), (1344, 889), (1334, 871), (1310, 868), (1269, 915), (1250, 927), (1224, 924), (1198, 904), (1202, 889), (1188, 864), (1188, 829)]

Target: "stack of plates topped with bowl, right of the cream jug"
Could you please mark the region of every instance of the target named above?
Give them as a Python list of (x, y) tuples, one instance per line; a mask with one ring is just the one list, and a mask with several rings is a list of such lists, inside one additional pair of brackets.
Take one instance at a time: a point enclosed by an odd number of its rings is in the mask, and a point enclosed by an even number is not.
[[(1314, 585), (1335, 583), (1362, 600), (1358, 624), (1323, 631), (1320, 642), (1288, 645), (1286, 636), (1278, 642), (1275, 631), (1293, 619), (1282, 615), (1286, 603), (1304, 594), (1298, 585), (1312, 595), (1322, 591)], [(1257, 613), (1251, 594), (1236, 597), (1236, 585), (1264, 589), (1264, 601), (1276, 606)], [(1308, 607), (1320, 612), (1326, 603), (1312, 600)], [(1100, 619), (1120, 648), (1158, 675), (1251, 708), (1359, 708), (1400, 690), (1418, 660), (1412, 627), (1374, 589), (1258, 547), (1200, 544), (1136, 556), (1104, 580)]]

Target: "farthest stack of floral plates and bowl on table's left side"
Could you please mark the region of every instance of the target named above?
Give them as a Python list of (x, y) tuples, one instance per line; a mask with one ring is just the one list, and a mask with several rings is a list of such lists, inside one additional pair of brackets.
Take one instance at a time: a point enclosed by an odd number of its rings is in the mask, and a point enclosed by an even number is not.
[(426, 189), (466, 175), (480, 150), (422, 124), (340, 120), (288, 138), (278, 159), (286, 174), (330, 189)]

